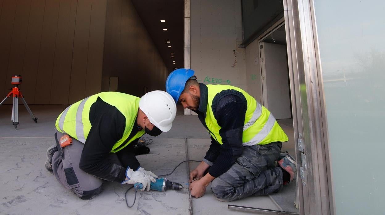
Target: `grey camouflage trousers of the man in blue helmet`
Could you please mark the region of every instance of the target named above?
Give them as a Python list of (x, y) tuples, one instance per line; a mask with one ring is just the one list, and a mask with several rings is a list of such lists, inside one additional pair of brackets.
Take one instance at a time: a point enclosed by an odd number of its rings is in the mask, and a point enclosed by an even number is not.
[(243, 147), (238, 160), (211, 183), (215, 197), (230, 202), (280, 191), (283, 177), (280, 167), (276, 167), (276, 160), (281, 147), (281, 142)]

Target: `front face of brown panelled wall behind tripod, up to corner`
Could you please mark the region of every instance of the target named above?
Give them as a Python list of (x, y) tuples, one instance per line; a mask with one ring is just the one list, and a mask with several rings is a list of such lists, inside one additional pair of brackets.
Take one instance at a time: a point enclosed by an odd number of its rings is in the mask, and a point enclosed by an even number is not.
[(100, 92), (106, 7), (107, 0), (0, 0), (0, 94), (15, 74), (28, 104)]

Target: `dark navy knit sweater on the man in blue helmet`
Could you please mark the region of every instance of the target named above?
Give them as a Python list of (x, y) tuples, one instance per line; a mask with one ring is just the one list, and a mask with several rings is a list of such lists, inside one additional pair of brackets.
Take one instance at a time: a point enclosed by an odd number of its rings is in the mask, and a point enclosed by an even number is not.
[[(201, 97), (196, 113), (207, 129), (204, 119), (208, 108), (208, 88), (200, 83), (199, 89)], [(222, 137), (223, 144), (219, 144), (211, 137), (211, 145), (203, 161), (211, 166), (209, 168), (210, 175), (218, 177), (226, 172), (242, 154), (242, 134), (247, 100), (239, 91), (223, 90), (214, 97), (211, 108), (218, 125), (221, 127), (219, 135)]]

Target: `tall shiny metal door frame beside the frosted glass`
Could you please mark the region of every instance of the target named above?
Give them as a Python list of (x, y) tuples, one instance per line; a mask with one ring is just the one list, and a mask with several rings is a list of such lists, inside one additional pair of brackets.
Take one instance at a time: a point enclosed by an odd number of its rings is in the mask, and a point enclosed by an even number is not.
[(284, 0), (301, 214), (335, 214), (313, 0)]

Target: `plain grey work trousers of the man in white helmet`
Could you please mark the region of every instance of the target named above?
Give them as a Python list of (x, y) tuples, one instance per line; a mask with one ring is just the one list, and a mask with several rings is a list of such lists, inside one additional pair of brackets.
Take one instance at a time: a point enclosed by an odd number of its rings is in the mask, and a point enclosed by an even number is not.
[[(56, 132), (60, 139), (63, 133)], [(52, 169), (56, 179), (65, 188), (72, 190), (78, 197), (88, 200), (102, 191), (103, 180), (90, 175), (79, 168), (80, 156), (82, 155), (84, 144), (72, 138), (72, 145), (64, 147), (64, 159), (59, 152), (55, 152), (52, 157)], [(121, 165), (115, 153), (110, 153), (110, 162)]]

